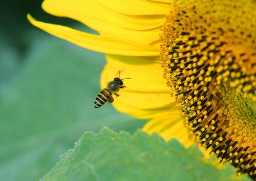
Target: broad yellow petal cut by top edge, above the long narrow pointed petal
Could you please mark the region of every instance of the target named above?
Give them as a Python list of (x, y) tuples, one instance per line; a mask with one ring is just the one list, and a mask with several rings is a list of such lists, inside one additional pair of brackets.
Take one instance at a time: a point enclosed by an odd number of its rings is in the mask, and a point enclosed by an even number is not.
[[(55, 16), (69, 17), (92, 28), (97, 27), (98, 32), (100, 32), (98, 28), (102, 30), (108, 29), (98, 26), (101, 23), (113, 24), (112, 26), (115, 25), (116, 27), (123, 27), (129, 30), (151, 30), (161, 27), (165, 20), (164, 14), (149, 16), (124, 15), (93, 1), (51, 0), (44, 1), (42, 8)], [(118, 31), (115, 30), (115, 32)]]

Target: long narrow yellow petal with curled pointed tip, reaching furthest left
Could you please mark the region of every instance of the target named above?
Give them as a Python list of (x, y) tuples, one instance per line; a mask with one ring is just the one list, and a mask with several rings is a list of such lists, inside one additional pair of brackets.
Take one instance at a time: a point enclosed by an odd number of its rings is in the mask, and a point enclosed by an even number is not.
[(93, 35), (60, 25), (37, 21), (28, 14), (28, 19), (34, 26), (59, 38), (68, 40), (93, 51), (130, 56), (158, 56), (159, 50), (153, 46), (135, 41), (112, 37)]

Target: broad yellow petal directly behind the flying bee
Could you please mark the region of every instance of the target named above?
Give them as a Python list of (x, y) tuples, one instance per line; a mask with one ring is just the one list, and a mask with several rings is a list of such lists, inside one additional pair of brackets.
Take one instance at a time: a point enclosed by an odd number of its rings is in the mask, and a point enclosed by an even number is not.
[[(159, 111), (176, 107), (175, 99), (162, 78), (159, 57), (107, 56), (108, 63), (101, 75), (104, 88), (115, 77), (131, 78), (123, 80), (126, 88), (120, 90), (113, 105), (121, 112), (140, 119), (152, 119)], [(145, 69), (146, 67), (146, 69)], [(176, 108), (175, 108), (176, 109)]]

